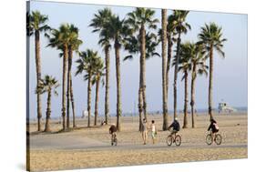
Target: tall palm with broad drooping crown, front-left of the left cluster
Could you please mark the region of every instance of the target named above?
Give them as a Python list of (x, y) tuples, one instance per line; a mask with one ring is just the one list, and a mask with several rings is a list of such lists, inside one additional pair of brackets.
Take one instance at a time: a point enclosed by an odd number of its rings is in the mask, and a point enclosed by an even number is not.
[(62, 74), (62, 126), (66, 130), (66, 78), (67, 78), (67, 58), (68, 45), (72, 34), (70, 34), (70, 25), (62, 24), (58, 29), (52, 30), (52, 36), (49, 38), (48, 46), (61, 49), (63, 52), (63, 74)]

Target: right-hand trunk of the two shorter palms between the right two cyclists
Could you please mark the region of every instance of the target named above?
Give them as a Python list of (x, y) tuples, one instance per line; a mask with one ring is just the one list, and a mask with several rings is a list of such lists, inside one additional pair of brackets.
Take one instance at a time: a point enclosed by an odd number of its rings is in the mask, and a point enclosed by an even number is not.
[(196, 64), (193, 64), (193, 69), (192, 69), (192, 76), (191, 76), (191, 101), (190, 101), (190, 106), (191, 106), (191, 118), (192, 118), (192, 127), (195, 127), (195, 81), (196, 81)]

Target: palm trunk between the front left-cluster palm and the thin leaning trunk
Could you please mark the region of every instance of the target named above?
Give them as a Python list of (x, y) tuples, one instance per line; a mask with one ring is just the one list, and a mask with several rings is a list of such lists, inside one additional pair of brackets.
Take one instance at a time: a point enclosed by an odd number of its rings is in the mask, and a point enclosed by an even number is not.
[(68, 48), (68, 67), (67, 67), (67, 129), (70, 124), (69, 110), (70, 110), (70, 76), (71, 76), (71, 65), (72, 65), (72, 49)]

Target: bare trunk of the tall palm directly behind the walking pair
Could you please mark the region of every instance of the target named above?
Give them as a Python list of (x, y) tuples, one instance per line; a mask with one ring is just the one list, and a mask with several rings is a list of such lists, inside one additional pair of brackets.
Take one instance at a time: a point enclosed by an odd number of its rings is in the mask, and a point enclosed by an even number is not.
[(147, 101), (146, 101), (146, 31), (145, 26), (141, 25), (140, 30), (140, 70), (142, 71), (140, 87), (142, 89), (143, 113), (147, 120)]

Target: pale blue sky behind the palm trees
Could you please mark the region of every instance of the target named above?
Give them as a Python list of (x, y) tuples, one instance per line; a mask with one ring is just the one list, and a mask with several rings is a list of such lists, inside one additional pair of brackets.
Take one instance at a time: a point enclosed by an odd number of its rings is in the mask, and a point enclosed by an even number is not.
[[(92, 34), (92, 28), (88, 27), (93, 15), (97, 10), (106, 7), (106, 5), (78, 5), (65, 3), (49, 2), (30, 2), (30, 10), (39, 10), (42, 14), (48, 15), (48, 25), (57, 28), (62, 23), (74, 24), (79, 28), (80, 39), (84, 44), (80, 50), (92, 48), (97, 50), (99, 55), (104, 58), (102, 48), (97, 45), (98, 35)], [(121, 18), (131, 12), (134, 7), (108, 6), (113, 13)], [(160, 9), (155, 9), (155, 17), (160, 20)], [(171, 10), (168, 11), (170, 15)], [(192, 29), (187, 35), (182, 35), (182, 42), (197, 41), (197, 35), (200, 33), (200, 26), (205, 23), (215, 22), (222, 26), (223, 35), (228, 41), (224, 45), (226, 54), (225, 59), (220, 58), (214, 53), (214, 80), (213, 80), (213, 100), (214, 107), (218, 106), (221, 99), (227, 101), (230, 106), (247, 106), (247, 15), (234, 15), (223, 13), (195, 12), (190, 11), (188, 23)], [(160, 27), (160, 23), (159, 23)], [(42, 74), (55, 76), (59, 83), (62, 82), (62, 60), (58, 57), (59, 51), (46, 47), (48, 40), (41, 35), (41, 57)], [(36, 117), (36, 62), (34, 36), (30, 38), (30, 117)], [(175, 46), (174, 46), (175, 49)], [(158, 47), (161, 53), (160, 45)], [(121, 51), (121, 56), (127, 56), (128, 53)], [(77, 55), (74, 56), (72, 73), (76, 71)], [(162, 109), (162, 91), (161, 91), (161, 58), (152, 57), (146, 64), (147, 80), (147, 102), (148, 111), (161, 111)], [(138, 103), (138, 56), (132, 61), (121, 62), (121, 86), (122, 86), (122, 109), (123, 112), (133, 112), (134, 102)], [(110, 113), (116, 112), (116, 77), (115, 77), (115, 56), (111, 51), (110, 59)], [(184, 83), (178, 82), (178, 108), (183, 108)], [(172, 78), (173, 68), (170, 74), (169, 87), (169, 110), (173, 109), (172, 96)], [(87, 109), (87, 82), (83, 81), (82, 76), (73, 76), (73, 85), (75, 93), (75, 103), (77, 115), (81, 116), (82, 110)], [(189, 81), (190, 82), (190, 81)], [(94, 112), (95, 87), (92, 88), (92, 112)], [(58, 88), (59, 96), (52, 97), (52, 116), (61, 114), (61, 86)], [(104, 87), (100, 89), (99, 113), (104, 112)], [(208, 78), (199, 76), (196, 83), (196, 107), (207, 108), (208, 106)], [(43, 114), (46, 111), (46, 95), (43, 96)]]

